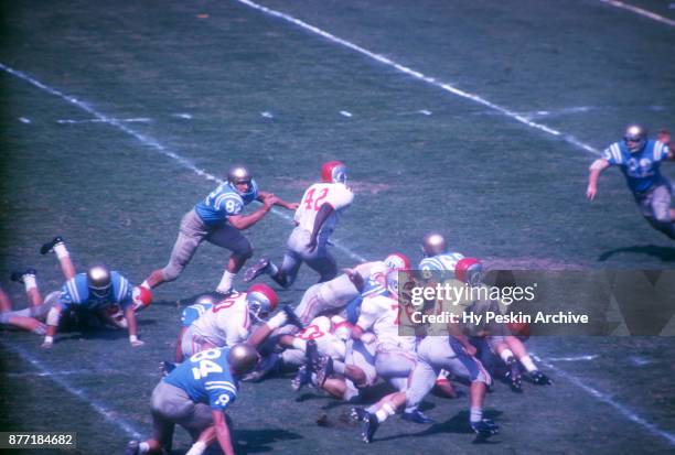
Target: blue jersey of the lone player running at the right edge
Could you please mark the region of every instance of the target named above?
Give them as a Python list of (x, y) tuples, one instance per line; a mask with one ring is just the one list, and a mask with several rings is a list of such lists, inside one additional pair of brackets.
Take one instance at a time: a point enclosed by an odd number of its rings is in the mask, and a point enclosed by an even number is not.
[(620, 166), (633, 193), (643, 193), (666, 182), (660, 170), (661, 162), (668, 158), (668, 148), (663, 142), (650, 140), (636, 153), (631, 153), (625, 142), (614, 142), (602, 152), (602, 158)]

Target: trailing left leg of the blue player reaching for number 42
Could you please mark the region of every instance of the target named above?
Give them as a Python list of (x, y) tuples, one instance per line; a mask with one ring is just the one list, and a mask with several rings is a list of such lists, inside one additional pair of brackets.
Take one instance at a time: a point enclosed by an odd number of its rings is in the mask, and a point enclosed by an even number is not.
[(141, 285), (153, 289), (179, 278), (207, 234), (206, 227), (199, 215), (194, 210), (186, 213), (181, 220), (179, 235), (171, 249), (169, 262), (164, 268), (152, 271)]

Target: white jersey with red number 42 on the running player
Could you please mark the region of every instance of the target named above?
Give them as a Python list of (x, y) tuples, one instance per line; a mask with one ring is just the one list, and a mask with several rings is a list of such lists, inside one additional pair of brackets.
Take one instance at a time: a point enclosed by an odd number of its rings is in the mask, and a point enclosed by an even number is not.
[(323, 204), (330, 204), (333, 213), (321, 227), (321, 237), (328, 238), (338, 224), (341, 213), (352, 204), (354, 193), (343, 183), (314, 183), (307, 188), (293, 219), (304, 230), (314, 229), (317, 214)]

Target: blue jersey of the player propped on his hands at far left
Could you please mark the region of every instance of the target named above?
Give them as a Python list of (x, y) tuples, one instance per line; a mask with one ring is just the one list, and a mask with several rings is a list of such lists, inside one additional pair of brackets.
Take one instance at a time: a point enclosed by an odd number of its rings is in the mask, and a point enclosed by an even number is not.
[(132, 304), (129, 280), (119, 272), (111, 271), (110, 282), (111, 285), (106, 295), (98, 296), (89, 291), (87, 274), (77, 273), (61, 289), (58, 304), (63, 310), (100, 310), (110, 305), (119, 305), (126, 310)]

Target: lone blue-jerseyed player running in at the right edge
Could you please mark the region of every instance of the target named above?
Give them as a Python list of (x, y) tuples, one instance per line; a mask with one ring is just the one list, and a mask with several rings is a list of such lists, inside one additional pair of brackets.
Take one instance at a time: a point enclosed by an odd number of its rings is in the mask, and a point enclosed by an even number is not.
[[(667, 131), (661, 139), (669, 142)], [(661, 174), (661, 162), (675, 155), (661, 140), (647, 139), (647, 131), (640, 124), (629, 124), (623, 140), (614, 142), (593, 161), (589, 169), (586, 196), (593, 201), (598, 195), (598, 178), (602, 171), (619, 166), (633, 193), (642, 216), (652, 227), (675, 239), (675, 210), (671, 208), (671, 182)]]

